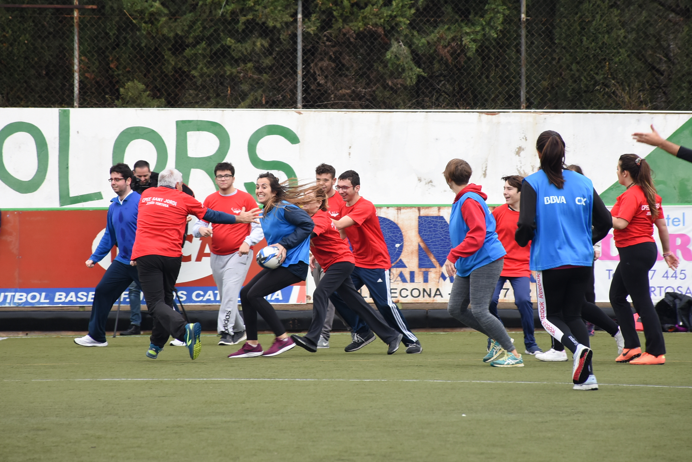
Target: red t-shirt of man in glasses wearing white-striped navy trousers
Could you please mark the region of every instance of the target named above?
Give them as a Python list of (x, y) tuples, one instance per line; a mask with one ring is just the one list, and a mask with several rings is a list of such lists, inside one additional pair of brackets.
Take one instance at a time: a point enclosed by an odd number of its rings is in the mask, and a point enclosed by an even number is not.
[(384, 270), (392, 268), (374, 204), (363, 197), (351, 207), (344, 202), (341, 205), (341, 218), (344, 216), (349, 216), (356, 222), (344, 229), (353, 247), (356, 266)]

